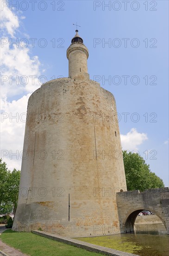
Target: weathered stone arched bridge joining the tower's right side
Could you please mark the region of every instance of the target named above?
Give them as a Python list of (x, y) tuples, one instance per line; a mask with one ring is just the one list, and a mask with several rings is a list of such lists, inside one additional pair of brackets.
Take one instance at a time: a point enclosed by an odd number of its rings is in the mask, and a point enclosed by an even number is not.
[(139, 212), (149, 210), (160, 218), (169, 234), (169, 188), (119, 192), (117, 206), (121, 233), (133, 231)]

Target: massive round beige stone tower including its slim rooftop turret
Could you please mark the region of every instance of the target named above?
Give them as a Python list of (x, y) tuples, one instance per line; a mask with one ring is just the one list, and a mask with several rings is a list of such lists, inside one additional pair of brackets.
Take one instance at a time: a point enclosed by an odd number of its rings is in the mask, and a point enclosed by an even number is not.
[(67, 58), (69, 77), (46, 82), (28, 101), (13, 230), (120, 233), (116, 192), (126, 182), (115, 99), (89, 79), (77, 30)]

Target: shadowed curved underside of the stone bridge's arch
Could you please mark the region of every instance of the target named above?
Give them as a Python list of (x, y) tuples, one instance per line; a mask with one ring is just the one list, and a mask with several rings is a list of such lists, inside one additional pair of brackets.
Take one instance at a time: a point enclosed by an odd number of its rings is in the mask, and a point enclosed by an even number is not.
[[(124, 231), (125, 233), (128, 233), (128, 232), (133, 232), (134, 231), (134, 222), (138, 216), (138, 214), (143, 211), (144, 209), (143, 208), (138, 208), (138, 209), (134, 209), (132, 211), (130, 211), (127, 216), (125, 217), (124, 219), (124, 222), (123, 222), (123, 226), (124, 226)], [(150, 210), (149, 207), (146, 209), (146, 210)], [(158, 214), (156, 213), (156, 211), (152, 210), (155, 215), (163, 222), (163, 225), (164, 227), (166, 228), (167, 230), (167, 227), (166, 227), (166, 223), (165, 221), (163, 220), (163, 218)]]

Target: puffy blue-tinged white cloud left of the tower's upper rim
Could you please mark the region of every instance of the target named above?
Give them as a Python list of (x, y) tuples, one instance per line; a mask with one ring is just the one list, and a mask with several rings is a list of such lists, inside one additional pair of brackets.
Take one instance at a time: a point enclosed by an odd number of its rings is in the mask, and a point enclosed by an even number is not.
[(1, 67), (1, 97), (31, 93), (40, 87), (40, 62), (38, 56), (30, 57), (29, 48), (16, 45), (10, 48), (9, 44), (4, 45), (1, 50)]

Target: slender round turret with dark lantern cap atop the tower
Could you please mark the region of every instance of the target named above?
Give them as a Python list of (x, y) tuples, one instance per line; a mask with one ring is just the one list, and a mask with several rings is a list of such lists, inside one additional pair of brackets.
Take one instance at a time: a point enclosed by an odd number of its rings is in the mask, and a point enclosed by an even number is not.
[(71, 45), (67, 49), (67, 58), (69, 60), (69, 77), (78, 79), (89, 79), (88, 74), (88, 48), (83, 44), (82, 38), (76, 34), (71, 40)]

